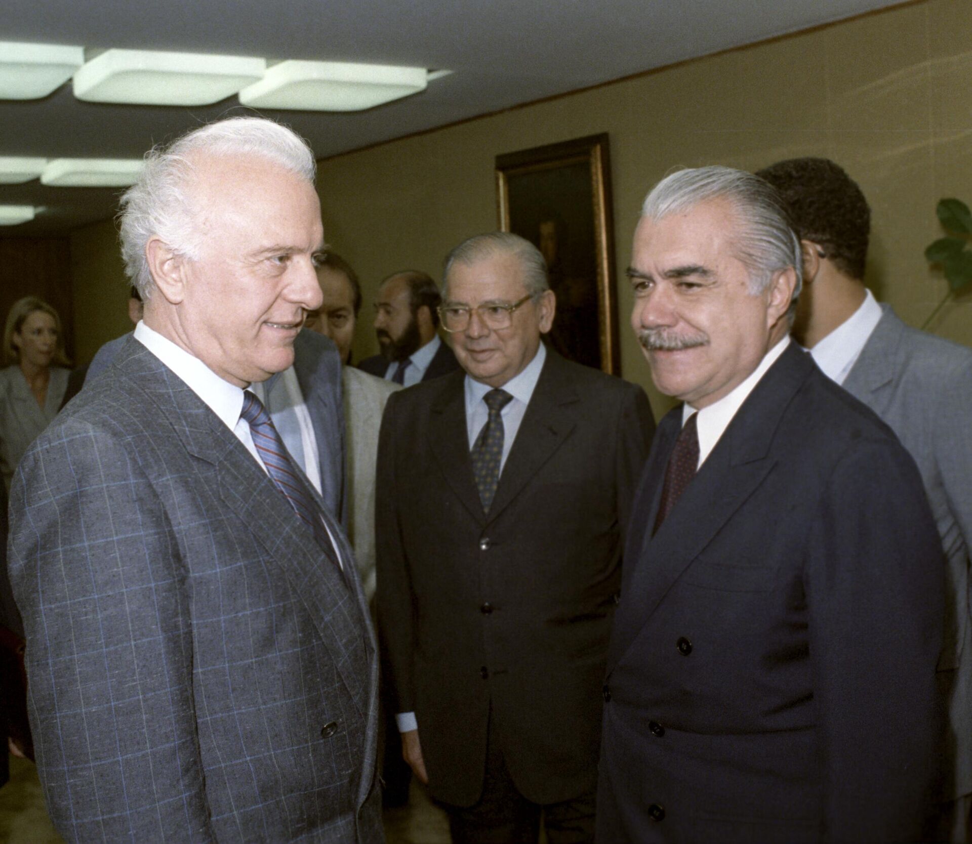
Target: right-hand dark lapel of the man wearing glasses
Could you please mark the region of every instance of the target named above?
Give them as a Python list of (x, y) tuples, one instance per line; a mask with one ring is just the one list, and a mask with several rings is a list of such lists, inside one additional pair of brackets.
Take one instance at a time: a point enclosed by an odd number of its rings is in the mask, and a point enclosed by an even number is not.
[(503, 464), (503, 474), (489, 511), (490, 522), (537, 476), (540, 467), (573, 431), (576, 422), (567, 408), (579, 398), (564, 368), (563, 359), (548, 350), (537, 387)]

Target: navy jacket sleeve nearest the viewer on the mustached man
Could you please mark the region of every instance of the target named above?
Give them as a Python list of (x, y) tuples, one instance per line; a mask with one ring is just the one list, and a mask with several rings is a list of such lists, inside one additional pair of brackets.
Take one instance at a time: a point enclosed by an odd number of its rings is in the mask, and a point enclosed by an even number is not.
[(804, 571), (826, 840), (925, 840), (942, 710), (941, 546), (918, 468), (886, 440), (837, 464)]

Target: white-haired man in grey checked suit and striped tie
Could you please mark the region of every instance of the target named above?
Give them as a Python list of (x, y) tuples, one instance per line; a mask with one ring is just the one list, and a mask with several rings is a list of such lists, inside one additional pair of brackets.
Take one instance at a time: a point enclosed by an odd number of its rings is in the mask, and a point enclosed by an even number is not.
[(321, 300), (314, 171), (260, 118), (149, 154), (121, 215), (145, 318), (17, 473), (31, 726), (69, 840), (383, 839), (354, 557), (247, 389)]

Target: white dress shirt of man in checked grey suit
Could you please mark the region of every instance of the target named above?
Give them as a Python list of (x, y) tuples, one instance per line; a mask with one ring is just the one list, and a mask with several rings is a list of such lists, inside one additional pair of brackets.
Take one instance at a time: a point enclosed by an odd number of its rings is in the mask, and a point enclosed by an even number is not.
[[(263, 465), (260, 453), (253, 443), (253, 436), (250, 434), (250, 422), (240, 417), (243, 412), (243, 388), (224, 381), (198, 357), (189, 354), (167, 337), (163, 337), (146, 325), (144, 321), (140, 321), (135, 326), (135, 339), (152, 354), (155, 354), (180, 380), (186, 383), (186, 386), (192, 392), (199, 396), (206, 406), (233, 432), (236, 439), (243, 443), (246, 450), (254, 456), (260, 468), (266, 472), (266, 466)], [(251, 385), (252, 387), (253, 385)], [(306, 408), (304, 408), (304, 413), (306, 413)], [(275, 421), (274, 425), (276, 425)], [(266, 473), (269, 475), (269, 472)], [(318, 470), (318, 479), (320, 483), (320, 470)], [(338, 565), (343, 568), (344, 561), (341, 559), (341, 552), (334, 541), (334, 536), (330, 532), (330, 526), (327, 522), (324, 522), (324, 526), (330, 537), (334, 557), (336, 557)]]

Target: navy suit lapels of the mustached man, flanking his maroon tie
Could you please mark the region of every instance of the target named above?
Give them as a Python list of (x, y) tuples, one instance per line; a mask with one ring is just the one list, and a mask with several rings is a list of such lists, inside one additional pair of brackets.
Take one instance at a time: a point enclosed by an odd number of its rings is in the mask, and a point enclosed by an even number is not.
[(810, 356), (795, 344), (781, 354), (748, 395), (654, 536), (651, 527), (674, 438), (664, 461), (663, 455), (649, 461), (647, 471), (655, 476), (645, 488), (652, 496), (650, 521), (643, 525), (641, 545), (629, 546), (625, 557), (626, 564), (635, 568), (621, 593), (608, 671), (624, 656), (682, 572), (772, 471), (776, 464), (771, 452), (774, 433), (793, 394), (813, 369)]

